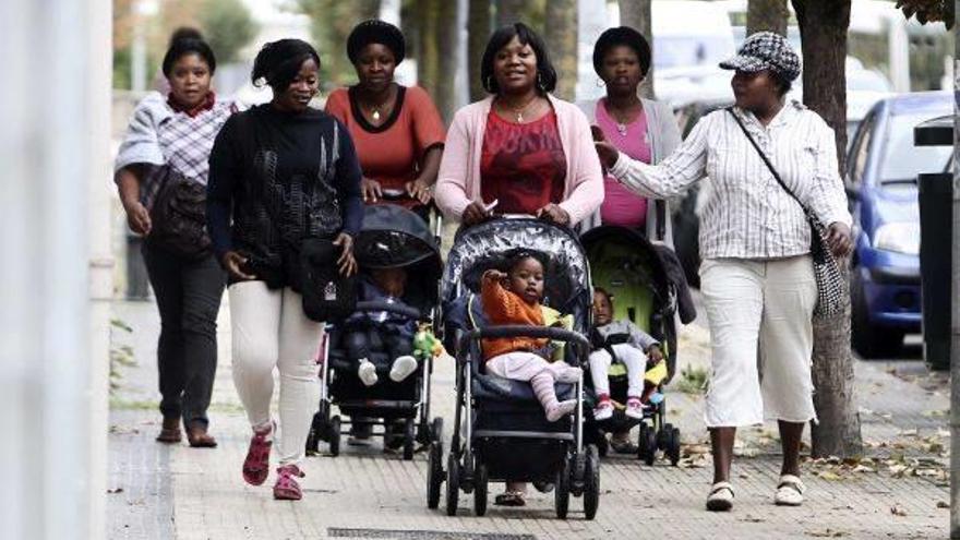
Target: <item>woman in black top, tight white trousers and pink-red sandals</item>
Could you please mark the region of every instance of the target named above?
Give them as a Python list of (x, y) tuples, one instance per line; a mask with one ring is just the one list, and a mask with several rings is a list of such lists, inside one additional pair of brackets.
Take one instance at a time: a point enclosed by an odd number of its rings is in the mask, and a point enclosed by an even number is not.
[(332, 240), (340, 253), (331, 264), (349, 276), (363, 218), (350, 135), (309, 106), (319, 70), (320, 57), (309, 44), (266, 44), (252, 79), (271, 86), (273, 100), (231, 118), (211, 153), (208, 226), (229, 274), (233, 383), (253, 428), (243, 478), (260, 485), (269, 472), (276, 367), (283, 430), (274, 499), (279, 500), (302, 497), (296, 479), (303, 476), (300, 463), (319, 398), (314, 359), (323, 323), (304, 314), (300, 245), (305, 239)]

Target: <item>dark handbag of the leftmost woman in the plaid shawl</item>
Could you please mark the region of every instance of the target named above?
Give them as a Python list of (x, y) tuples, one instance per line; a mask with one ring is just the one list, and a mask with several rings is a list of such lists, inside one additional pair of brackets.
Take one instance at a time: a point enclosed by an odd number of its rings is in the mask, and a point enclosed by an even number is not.
[(164, 167), (156, 197), (149, 208), (153, 224), (147, 240), (183, 259), (196, 261), (211, 254), (206, 232), (206, 187)]

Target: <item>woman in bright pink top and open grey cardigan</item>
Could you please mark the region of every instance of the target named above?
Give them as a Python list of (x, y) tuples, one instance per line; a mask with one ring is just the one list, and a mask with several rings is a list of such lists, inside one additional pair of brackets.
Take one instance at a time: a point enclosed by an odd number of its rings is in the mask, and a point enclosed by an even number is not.
[[(603, 81), (607, 96), (578, 105), (590, 124), (600, 129), (603, 137), (617, 151), (633, 159), (656, 165), (680, 145), (681, 137), (670, 107), (640, 98), (637, 93), (650, 70), (650, 44), (639, 32), (629, 26), (604, 31), (593, 46), (593, 71)], [(673, 245), (665, 201), (659, 203), (663, 213), (658, 216), (646, 197), (633, 193), (609, 175), (603, 180), (603, 190), (605, 196), (600, 211), (580, 224), (581, 231), (600, 225), (616, 225), (644, 229), (647, 238), (662, 238), (668, 245)], [(677, 290), (682, 295), (688, 293), (685, 280), (677, 284)], [(637, 453), (628, 430), (613, 433), (610, 446), (617, 454)]]

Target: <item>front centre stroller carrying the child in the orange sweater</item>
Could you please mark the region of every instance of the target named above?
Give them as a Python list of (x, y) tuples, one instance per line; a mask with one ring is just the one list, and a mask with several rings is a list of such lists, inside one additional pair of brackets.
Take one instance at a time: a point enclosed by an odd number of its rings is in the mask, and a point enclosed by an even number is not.
[[(543, 303), (571, 315), (576, 332), (483, 324), (480, 277), (520, 247), (548, 261)], [(586, 360), (588, 343), (583, 332), (590, 320), (590, 273), (576, 236), (532, 218), (505, 218), (460, 230), (441, 289), (444, 344), (457, 361), (456, 411), (446, 469), (443, 442), (437, 439), (430, 444), (428, 506), (439, 506), (444, 481), (449, 516), (457, 512), (460, 491), (472, 492), (476, 515), (484, 515), (491, 481), (553, 483), (557, 517), (566, 517), (573, 494), (584, 497), (584, 512), (592, 519), (599, 505), (600, 461), (597, 447), (584, 445), (583, 380), (556, 385), (560, 399), (576, 397), (574, 418), (548, 422), (530, 384), (485, 374), (480, 350), (481, 338), (547, 337), (566, 344), (565, 358), (572, 365)]]

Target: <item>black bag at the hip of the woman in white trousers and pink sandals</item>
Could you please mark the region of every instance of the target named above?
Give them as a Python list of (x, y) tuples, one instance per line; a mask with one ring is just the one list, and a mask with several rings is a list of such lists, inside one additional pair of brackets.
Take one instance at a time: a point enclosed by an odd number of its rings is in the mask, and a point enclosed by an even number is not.
[(344, 277), (337, 267), (340, 248), (326, 238), (300, 243), (300, 293), (303, 314), (311, 321), (338, 322), (357, 305), (357, 277)]

